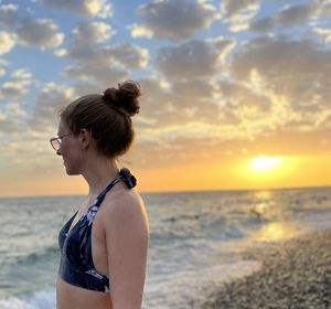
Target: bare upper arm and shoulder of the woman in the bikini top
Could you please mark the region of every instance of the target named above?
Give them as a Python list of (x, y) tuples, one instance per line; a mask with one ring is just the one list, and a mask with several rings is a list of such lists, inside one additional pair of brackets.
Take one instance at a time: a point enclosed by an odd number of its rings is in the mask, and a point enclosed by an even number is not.
[(149, 239), (142, 201), (132, 195), (114, 201), (104, 223), (114, 309), (141, 308)]

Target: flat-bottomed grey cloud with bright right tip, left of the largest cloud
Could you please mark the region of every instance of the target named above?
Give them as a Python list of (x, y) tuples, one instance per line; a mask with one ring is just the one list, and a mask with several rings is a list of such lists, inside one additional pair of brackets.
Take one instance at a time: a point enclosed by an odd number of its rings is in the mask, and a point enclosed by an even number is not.
[(172, 78), (212, 77), (218, 73), (234, 42), (224, 39), (193, 40), (175, 46), (162, 47), (157, 65), (170, 81)]

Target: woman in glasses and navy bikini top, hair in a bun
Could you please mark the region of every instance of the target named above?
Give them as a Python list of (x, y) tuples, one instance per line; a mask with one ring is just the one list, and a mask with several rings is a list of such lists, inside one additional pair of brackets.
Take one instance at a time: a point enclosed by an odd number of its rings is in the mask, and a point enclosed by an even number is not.
[(141, 308), (149, 239), (136, 179), (116, 159), (134, 139), (139, 85), (127, 81), (83, 96), (61, 113), (51, 145), (66, 173), (82, 174), (89, 192), (63, 226), (56, 285), (58, 309)]

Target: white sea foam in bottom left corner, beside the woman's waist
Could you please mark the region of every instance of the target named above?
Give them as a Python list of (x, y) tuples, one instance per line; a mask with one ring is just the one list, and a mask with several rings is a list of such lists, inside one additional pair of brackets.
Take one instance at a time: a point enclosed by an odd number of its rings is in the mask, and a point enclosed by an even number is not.
[(0, 309), (55, 309), (55, 290), (44, 290), (30, 297), (9, 297), (0, 299)]

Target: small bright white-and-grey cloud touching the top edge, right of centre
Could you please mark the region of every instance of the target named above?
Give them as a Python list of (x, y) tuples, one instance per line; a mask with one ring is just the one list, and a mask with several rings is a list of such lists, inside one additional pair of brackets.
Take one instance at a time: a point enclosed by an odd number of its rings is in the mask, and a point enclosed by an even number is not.
[(260, 8), (259, 0), (224, 0), (221, 4), (224, 21), (232, 32), (247, 30)]

